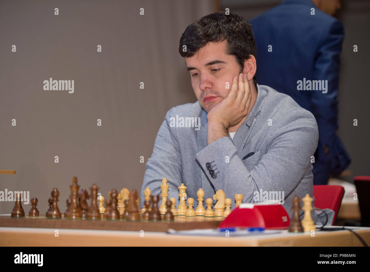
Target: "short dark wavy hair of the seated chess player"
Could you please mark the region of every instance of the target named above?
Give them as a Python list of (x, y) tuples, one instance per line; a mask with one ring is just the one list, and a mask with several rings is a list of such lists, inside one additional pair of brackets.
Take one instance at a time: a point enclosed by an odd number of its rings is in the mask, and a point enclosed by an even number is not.
[[(200, 48), (209, 42), (227, 41), (226, 54), (236, 57), (240, 73), (244, 68), (244, 60), (249, 55), (256, 58), (256, 42), (252, 25), (238, 14), (215, 12), (195, 21), (186, 27), (180, 38), (179, 53), (181, 57), (192, 57)], [(186, 52), (182, 47), (186, 45)], [(257, 89), (256, 75), (253, 82)]]

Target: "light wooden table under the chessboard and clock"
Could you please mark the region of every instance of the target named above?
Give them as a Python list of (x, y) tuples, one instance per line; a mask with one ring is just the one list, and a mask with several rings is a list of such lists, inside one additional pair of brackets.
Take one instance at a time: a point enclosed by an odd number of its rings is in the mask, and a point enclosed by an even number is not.
[[(158, 228), (154, 228), (157, 231), (146, 230), (153, 229), (152, 226), (150, 228), (144, 226), (143, 230), (142, 225), (135, 231), (122, 231), (114, 229), (117, 226), (131, 228), (132, 226), (126, 223), (133, 222), (13, 219), (9, 221), (9, 216), (0, 216), (0, 246), (362, 246), (356, 235), (348, 230), (317, 230), (314, 237), (310, 233), (294, 234), (287, 230), (282, 230), (279, 234), (255, 236), (195, 236), (158, 231), (159, 228), (166, 227), (163, 224), (158, 224)], [(47, 220), (47, 224), (43, 223), (47, 227), (37, 225), (39, 224), (37, 222), (42, 222), (42, 220)], [(195, 220), (200, 220), (199, 218), (186, 220), (189, 221), (169, 224), (172, 224), (171, 228), (178, 229), (194, 229), (219, 224), (218, 221), (196, 222)], [(17, 224), (21, 227), (15, 226)], [(195, 227), (189, 224), (195, 224)], [(105, 229), (95, 229), (94, 226)], [(370, 244), (370, 228), (346, 228), (354, 229), (367, 244)]]

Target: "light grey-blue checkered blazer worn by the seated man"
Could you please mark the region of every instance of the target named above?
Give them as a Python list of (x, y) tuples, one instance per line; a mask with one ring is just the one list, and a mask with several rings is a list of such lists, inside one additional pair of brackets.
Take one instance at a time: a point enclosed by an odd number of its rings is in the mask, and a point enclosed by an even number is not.
[[(263, 199), (265, 191), (271, 196), (274, 192), (282, 196), (283, 192), (282, 205), (290, 217), (292, 197), (303, 198), (308, 193), (313, 198), (311, 156), (319, 139), (314, 116), (289, 95), (265, 85), (257, 87), (256, 102), (233, 139), (223, 137), (207, 145), (207, 112), (199, 101), (167, 112), (146, 164), (142, 204), (144, 189), (149, 187), (152, 195), (159, 195), (164, 177), (168, 180), (169, 198), (176, 198), (178, 205), (178, 187), (184, 183), (187, 197), (195, 199), (194, 208), (199, 188), (205, 192), (204, 199), (213, 198), (215, 191), (222, 189), (226, 198), (232, 199), (232, 208), (234, 194), (243, 194), (243, 203), (255, 203), (274, 200)], [(184, 125), (181, 117), (195, 117), (195, 121), (200, 117), (201, 124)], [(325, 211), (327, 225), (331, 225), (334, 211)], [(303, 211), (300, 214), (302, 219)], [(326, 218), (323, 212), (312, 210), (312, 219), (316, 225), (323, 225)]]

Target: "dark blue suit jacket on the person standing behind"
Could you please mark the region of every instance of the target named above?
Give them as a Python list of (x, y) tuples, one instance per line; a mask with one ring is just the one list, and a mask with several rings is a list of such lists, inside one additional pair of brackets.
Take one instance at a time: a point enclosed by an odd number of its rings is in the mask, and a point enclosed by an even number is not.
[[(258, 83), (289, 95), (313, 113), (319, 128), (315, 159), (330, 163), (332, 174), (339, 174), (350, 163), (336, 135), (342, 24), (310, 0), (286, 0), (250, 23), (257, 45)], [(327, 80), (327, 90), (297, 90), (297, 81), (304, 78)]]

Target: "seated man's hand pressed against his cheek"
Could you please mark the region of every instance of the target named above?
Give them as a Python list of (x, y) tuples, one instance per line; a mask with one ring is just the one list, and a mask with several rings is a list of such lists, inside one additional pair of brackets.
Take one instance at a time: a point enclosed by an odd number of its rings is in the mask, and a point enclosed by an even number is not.
[(216, 104), (208, 113), (208, 124), (212, 127), (225, 128), (238, 124), (248, 113), (250, 101), (250, 86), (246, 74), (233, 78), (228, 97)]

